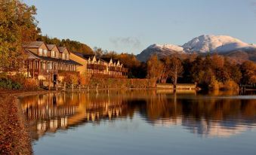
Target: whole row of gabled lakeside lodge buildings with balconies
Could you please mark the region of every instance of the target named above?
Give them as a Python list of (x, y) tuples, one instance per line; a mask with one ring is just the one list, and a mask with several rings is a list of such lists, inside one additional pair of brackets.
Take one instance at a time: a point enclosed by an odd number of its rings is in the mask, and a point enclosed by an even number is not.
[(62, 80), (64, 73), (91, 74), (102, 78), (127, 78), (128, 69), (117, 59), (72, 53), (66, 47), (31, 41), (23, 44), (27, 54), (24, 69), (29, 78)]

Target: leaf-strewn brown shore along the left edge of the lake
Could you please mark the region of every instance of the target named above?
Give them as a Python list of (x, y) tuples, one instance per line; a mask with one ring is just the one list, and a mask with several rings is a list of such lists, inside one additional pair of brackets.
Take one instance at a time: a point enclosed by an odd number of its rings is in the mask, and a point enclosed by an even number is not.
[(0, 91), (0, 154), (32, 154), (29, 126), (18, 97), (50, 92)]

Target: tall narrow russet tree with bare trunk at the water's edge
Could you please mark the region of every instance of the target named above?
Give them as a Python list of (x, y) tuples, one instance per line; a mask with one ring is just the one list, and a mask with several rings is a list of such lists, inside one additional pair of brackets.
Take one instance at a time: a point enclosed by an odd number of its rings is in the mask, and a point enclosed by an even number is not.
[(170, 67), (170, 76), (171, 80), (174, 83), (174, 88), (177, 86), (177, 78), (181, 77), (183, 73), (182, 62), (179, 58), (171, 56), (171, 67)]

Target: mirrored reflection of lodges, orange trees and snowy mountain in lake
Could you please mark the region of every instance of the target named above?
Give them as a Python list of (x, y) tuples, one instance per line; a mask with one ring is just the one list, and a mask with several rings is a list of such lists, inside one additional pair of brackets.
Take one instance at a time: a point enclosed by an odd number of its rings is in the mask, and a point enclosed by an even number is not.
[(34, 140), (85, 123), (131, 119), (134, 114), (152, 126), (182, 126), (199, 136), (230, 137), (256, 126), (255, 96), (235, 94), (166, 90), (48, 93), (20, 102)]

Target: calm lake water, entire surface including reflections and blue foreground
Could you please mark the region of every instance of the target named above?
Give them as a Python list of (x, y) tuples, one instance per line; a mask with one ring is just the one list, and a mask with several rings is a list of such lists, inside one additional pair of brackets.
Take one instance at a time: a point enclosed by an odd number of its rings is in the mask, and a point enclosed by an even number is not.
[(256, 154), (253, 93), (48, 93), (20, 102), (35, 154)]

